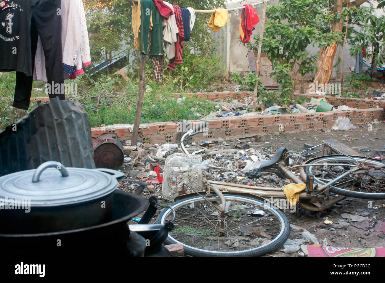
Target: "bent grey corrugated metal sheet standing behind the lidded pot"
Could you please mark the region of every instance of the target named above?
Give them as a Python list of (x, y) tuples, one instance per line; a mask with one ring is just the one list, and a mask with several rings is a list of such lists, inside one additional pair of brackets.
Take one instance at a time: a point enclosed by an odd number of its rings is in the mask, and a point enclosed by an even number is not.
[(46, 161), (93, 169), (87, 112), (72, 100), (51, 99), (0, 132), (0, 176), (35, 169)]

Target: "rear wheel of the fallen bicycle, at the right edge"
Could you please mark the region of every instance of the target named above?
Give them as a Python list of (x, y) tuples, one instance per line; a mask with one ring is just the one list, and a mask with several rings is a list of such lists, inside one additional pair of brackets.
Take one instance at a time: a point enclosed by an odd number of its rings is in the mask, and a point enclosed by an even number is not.
[[(358, 156), (354, 156), (353, 158), (356, 159), (359, 163), (365, 161), (366, 164), (370, 165), (384, 165), (383, 162), (380, 162), (376, 159), (368, 159), (365, 157)], [(316, 157), (305, 162), (305, 164), (316, 163), (329, 164), (327, 165), (327, 167), (323, 167), (321, 165), (305, 167), (306, 175), (313, 174), (314, 181), (320, 185), (326, 184), (327, 181), (331, 181), (333, 177), (335, 178), (336, 176), (343, 174), (344, 172), (348, 171), (348, 169), (352, 168), (352, 165), (356, 164), (352, 158), (343, 155)], [(336, 163), (336, 165), (330, 165), (330, 163)], [(346, 166), (337, 164), (346, 164)], [(322, 167), (322, 169), (320, 169), (320, 167)], [(352, 175), (355, 177), (353, 178)], [(363, 191), (363, 188), (366, 191)], [(353, 198), (385, 199), (385, 169), (360, 169), (360, 171), (357, 171), (357, 173), (352, 173), (351, 175), (348, 175), (338, 181), (338, 183), (336, 183), (335, 185), (332, 185), (330, 187), (330, 191), (335, 194), (350, 196)], [(381, 191), (384, 191), (384, 193), (381, 193)]]

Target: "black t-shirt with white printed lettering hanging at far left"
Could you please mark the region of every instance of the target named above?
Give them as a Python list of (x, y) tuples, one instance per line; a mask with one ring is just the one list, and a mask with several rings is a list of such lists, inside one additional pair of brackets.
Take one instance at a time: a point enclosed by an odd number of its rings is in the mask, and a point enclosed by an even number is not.
[(32, 7), (41, 0), (0, 0), (0, 72), (32, 76)]

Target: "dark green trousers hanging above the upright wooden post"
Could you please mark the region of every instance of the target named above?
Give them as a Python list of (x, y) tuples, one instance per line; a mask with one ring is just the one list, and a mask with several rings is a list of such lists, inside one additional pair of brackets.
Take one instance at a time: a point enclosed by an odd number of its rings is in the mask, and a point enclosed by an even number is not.
[(143, 55), (147, 54), (151, 16), (152, 34), (150, 55), (163, 55), (162, 18), (161, 13), (152, 0), (141, 0), (141, 26), (139, 28), (140, 51)]

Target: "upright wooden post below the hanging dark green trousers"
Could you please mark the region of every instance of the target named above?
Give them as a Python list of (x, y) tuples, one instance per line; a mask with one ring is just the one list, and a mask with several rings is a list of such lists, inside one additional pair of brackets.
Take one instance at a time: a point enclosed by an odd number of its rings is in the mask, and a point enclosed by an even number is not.
[(134, 129), (132, 130), (131, 146), (136, 146), (139, 133), (139, 124), (141, 123), (143, 96), (144, 96), (144, 79), (146, 78), (146, 58), (147, 55), (141, 54), (141, 62), (139, 63), (139, 88), (138, 99), (136, 102), (136, 112), (134, 120)]

